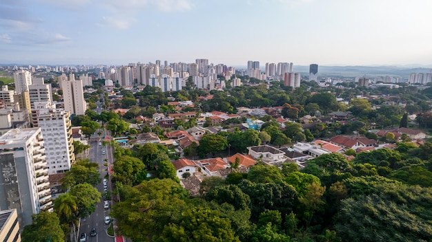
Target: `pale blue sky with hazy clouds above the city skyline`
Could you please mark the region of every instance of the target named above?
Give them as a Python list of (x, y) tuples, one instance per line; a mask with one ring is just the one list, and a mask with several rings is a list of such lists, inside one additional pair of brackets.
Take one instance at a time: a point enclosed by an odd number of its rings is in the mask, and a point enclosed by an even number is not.
[(0, 0), (0, 64), (432, 66), (432, 0)]

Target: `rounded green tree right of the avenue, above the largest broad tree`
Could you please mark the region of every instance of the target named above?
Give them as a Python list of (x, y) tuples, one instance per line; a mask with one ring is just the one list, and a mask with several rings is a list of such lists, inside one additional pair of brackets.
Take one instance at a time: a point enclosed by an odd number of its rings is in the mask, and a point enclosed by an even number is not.
[(146, 179), (147, 171), (144, 163), (135, 157), (122, 156), (114, 162), (113, 180), (122, 184), (136, 186)]

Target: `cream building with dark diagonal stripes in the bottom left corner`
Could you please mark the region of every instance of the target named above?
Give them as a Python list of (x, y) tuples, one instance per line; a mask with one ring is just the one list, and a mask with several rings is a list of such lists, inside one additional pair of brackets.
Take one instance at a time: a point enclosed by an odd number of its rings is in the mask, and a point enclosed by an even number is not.
[(0, 211), (0, 241), (21, 242), (18, 213), (16, 209)]

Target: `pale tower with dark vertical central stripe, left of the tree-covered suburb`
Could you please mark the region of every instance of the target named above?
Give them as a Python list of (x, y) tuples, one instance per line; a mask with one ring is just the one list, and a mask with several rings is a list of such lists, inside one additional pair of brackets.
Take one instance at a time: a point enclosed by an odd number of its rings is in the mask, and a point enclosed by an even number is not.
[(87, 102), (84, 100), (84, 87), (82, 80), (62, 80), (64, 109), (71, 114), (84, 115)]

